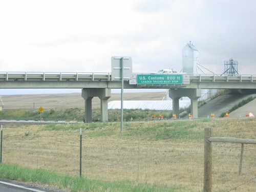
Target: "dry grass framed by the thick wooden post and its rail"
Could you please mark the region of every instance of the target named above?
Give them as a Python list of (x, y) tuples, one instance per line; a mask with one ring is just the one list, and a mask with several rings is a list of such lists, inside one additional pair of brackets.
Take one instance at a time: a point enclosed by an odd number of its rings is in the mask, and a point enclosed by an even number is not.
[(255, 191), (256, 147), (244, 148), (242, 171), (239, 174), (241, 144), (213, 144), (213, 191)]

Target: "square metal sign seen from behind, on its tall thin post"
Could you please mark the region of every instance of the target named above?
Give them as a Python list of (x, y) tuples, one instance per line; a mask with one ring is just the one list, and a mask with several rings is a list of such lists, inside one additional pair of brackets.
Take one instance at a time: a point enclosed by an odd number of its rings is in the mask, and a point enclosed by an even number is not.
[(111, 80), (121, 80), (121, 132), (123, 131), (123, 81), (133, 76), (132, 57), (111, 57)]

